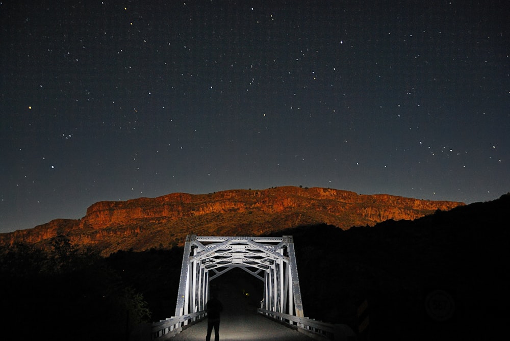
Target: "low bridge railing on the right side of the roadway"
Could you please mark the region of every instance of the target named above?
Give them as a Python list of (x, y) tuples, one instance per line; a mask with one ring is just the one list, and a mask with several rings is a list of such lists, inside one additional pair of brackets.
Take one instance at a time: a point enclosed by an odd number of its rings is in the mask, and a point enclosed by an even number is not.
[(309, 318), (299, 318), (297, 316), (266, 310), (259, 308), (258, 312), (264, 316), (295, 326), (301, 331), (307, 331), (317, 336), (322, 336), (330, 340), (355, 340), (356, 334), (352, 329), (344, 324), (331, 324), (322, 321), (316, 321)]

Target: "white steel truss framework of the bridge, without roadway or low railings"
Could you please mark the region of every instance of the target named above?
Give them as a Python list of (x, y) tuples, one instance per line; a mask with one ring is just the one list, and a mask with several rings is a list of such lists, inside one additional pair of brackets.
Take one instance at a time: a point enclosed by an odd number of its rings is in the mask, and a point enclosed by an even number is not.
[(210, 281), (241, 268), (264, 283), (262, 308), (304, 317), (292, 236), (186, 237), (175, 316), (205, 310)]

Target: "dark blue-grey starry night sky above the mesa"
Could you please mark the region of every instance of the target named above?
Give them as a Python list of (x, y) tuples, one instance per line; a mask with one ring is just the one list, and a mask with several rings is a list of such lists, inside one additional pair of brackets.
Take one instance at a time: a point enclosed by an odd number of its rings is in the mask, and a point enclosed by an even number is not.
[(506, 5), (0, 2), (0, 232), (173, 192), (496, 199)]

